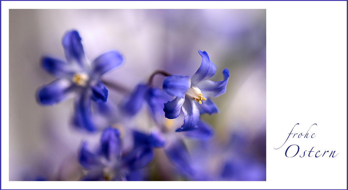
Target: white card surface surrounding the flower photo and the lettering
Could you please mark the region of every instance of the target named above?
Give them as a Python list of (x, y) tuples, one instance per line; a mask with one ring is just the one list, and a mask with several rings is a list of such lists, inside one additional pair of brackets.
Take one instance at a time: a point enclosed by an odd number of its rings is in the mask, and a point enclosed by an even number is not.
[[(67, 7), (69, 4), (69, 7)], [(11, 8), (267, 9), (266, 182), (9, 182), (8, 9)], [(2, 189), (346, 189), (347, 2), (1, 2)], [(5, 101), (4, 101), (5, 100)], [(315, 138), (289, 137), (293, 132)], [(297, 144), (299, 154), (285, 157)], [(337, 157), (308, 157), (308, 151)], [(294, 147), (292, 147), (294, 148)], [(303, 151), (307, 150), (304, 158)], [(314, 152), (314, 153), (315, 153)], [(326, 153), (327, 154), (327, 153)], [(314, 155), (312, 153), (312, 155)], [(330, 155), (330, 154), (329, 154)]]

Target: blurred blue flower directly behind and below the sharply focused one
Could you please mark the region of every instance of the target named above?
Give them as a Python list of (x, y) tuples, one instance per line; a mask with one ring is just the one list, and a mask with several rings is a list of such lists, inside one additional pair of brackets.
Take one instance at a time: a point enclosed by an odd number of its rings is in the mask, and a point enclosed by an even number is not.
[(195, 140), (210, 139), (213, 136), (213, 128), (204, 121), (198, 121), (195, 130), (175, 132), (173, 127), (176, 123), (168, 122), (169, 120), (164, 117), (164, 102), (168, 100), (169, 96), (163, 90), (149, 84), (139, 84), (128, 100), (122, 104), (122, 111), (129, 116), (134, 116), (140, 111), (143, 102), (146, 102), (156, 127), (149, 129), (149, 135), (133, 131), (135, 145), (163, 148), (169, 161), (179, 173), (191, 176), (194, 171), (184, 139), (185, 137)]

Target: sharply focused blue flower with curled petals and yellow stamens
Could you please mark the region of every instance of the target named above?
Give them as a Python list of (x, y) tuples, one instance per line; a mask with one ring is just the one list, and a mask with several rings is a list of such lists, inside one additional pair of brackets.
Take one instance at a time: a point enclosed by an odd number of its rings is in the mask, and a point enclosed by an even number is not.
[[(214, 82), (208, 80), (216, 72), (216, 66), (209, 59), (207, 52), (198, 51), (202, 56), (202, 63), (196, 73), (189, 76), (171, 75), (163, 81), (163, 90), (174, 100), (164, 104), (165, 117), (175, 119), (184, 113), (184, 124), (176, 131), (187, 131), (198, 128), (200, 114), (216, 113), (217, 107), (207, 97), (217, 97), (226, 91), (226, 85), (230, 73), (227, 68), (222, 71), (223, 80)], [(206, 96), (206, 97), (203, 97)]]

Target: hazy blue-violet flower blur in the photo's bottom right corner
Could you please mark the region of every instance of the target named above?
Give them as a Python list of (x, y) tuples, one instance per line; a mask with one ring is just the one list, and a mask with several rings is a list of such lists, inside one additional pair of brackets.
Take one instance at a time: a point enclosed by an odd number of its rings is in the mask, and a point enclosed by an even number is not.
[[(254, 148), (261, 149), (260, 153)], [(234, 132), (227, 143), (216, 139), (196, 144), (191, 152), (193, 181), (266, 181), (266, 133), (255, 137)], [(264, 159), (264, 160), (263, 160)]]

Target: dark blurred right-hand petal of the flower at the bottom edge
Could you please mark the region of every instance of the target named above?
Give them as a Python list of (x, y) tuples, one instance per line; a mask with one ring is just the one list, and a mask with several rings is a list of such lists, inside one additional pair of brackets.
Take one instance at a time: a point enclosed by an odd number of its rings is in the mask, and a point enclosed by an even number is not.
[(153, 152), (149, 146), (137, 147), (122, 158), (123, 166), (130, 171), (139, 170), (150, 163)]

